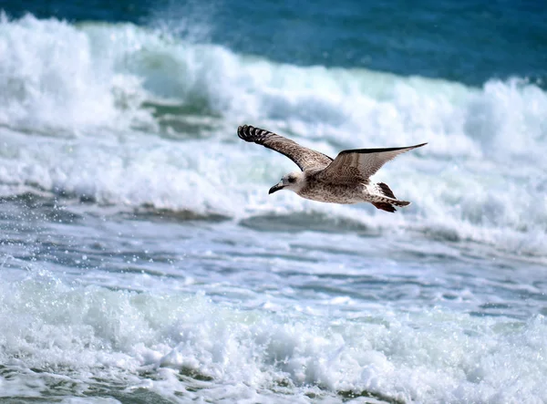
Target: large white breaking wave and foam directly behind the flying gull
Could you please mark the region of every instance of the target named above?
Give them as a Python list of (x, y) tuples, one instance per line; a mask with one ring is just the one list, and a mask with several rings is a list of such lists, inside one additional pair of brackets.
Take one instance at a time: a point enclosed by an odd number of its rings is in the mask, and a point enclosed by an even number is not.
[[(326, 212), (544, 256), (547, 94), (366, 69), (296, 67), (132, 25), (0, 21), (0, 184), (100, 203)], [(397, 215), (266, 190), (294, 165), (235, 137), (244, 122), (335, 155), (428, 141), (386, 166)], [(368, 208), (365, 208), (368, 209)]]

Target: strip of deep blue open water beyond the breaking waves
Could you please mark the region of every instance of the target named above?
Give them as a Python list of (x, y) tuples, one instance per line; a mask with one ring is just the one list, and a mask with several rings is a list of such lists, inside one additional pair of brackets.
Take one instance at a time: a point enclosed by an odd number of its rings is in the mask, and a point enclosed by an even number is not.
[(547, 79), (541, 0), (4, 0), (0, 8), (14, 17), (168, 24), (181, 35), (199, 32), (199, 41), (296, 65), (367, 67), (475, 86), (514, 76), (544, 87)]

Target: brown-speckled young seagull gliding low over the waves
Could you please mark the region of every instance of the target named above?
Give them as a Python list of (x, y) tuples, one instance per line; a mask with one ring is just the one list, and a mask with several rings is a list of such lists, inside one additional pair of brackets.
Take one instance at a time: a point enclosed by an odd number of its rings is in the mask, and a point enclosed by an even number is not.
[(395, 212), (394, 206), (408, 206), (410, 202), (398, 200), (387, 184), (371, 182), (370, 177), (397, 155), (428, 144), (403, 148), (343, 150), (333, 160), (319, 151), (304, 148), (293, 140), (250, 125), (240, 126), (237, 135), (245, 141), (261, 144), (284, 154), (300, 168), (301, 171), (284, 175), (268, 193), (289, 190), (305, 199), (318, 202), (370, 202), (377, 209), (386, 212)]

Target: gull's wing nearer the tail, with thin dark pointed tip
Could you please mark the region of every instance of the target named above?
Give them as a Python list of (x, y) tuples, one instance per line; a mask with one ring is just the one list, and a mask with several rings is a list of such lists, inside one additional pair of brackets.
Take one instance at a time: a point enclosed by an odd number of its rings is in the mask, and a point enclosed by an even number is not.
[(389, 149), (355, 149), (340, 151), (321, 177), (334, 182), (368, 181), (387, 161), (393, 160), (405, 151), (422, 147), (428, 143), (417, 144), (405, 148)]

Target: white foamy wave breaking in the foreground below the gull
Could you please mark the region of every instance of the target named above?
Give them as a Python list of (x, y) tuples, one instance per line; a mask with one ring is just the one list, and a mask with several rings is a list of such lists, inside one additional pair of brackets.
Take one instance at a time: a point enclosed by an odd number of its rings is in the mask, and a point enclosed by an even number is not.
[(127, 398), (142, 388), (228, 402), (278, 402), (274, 391), (288, 402), (350, 391), (403, 402), (547, 400), (542, 316), (382, 310), (346, 321), (66, 285), (46, 271), (0, 292), (0, 397), (66, 385), (73, 395), (108, 386)]

